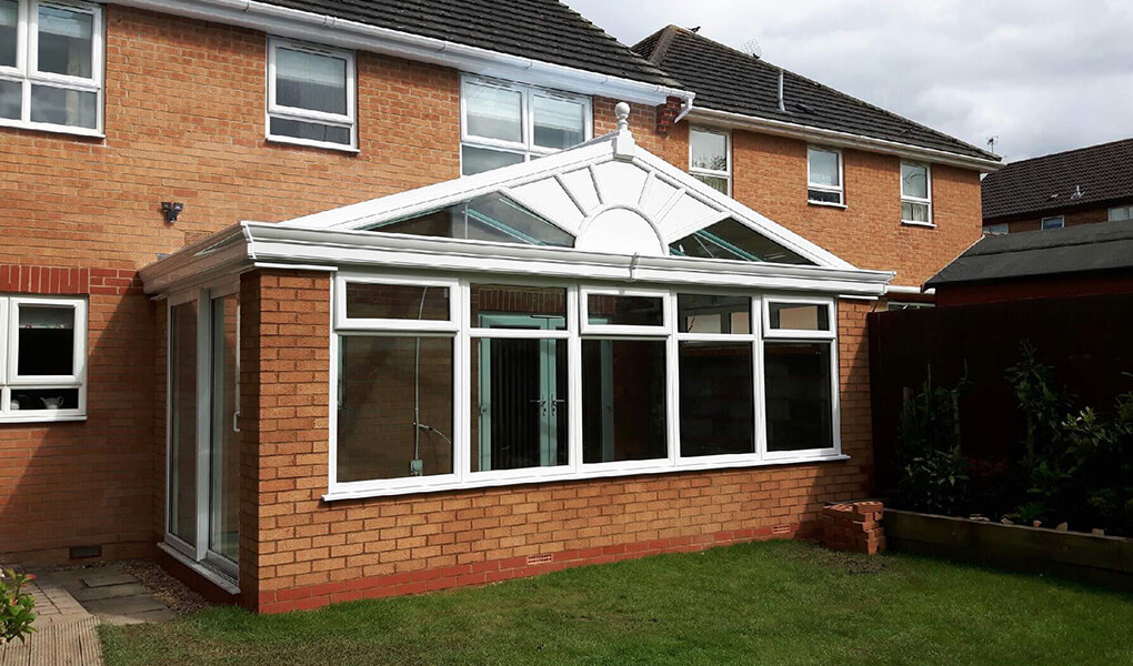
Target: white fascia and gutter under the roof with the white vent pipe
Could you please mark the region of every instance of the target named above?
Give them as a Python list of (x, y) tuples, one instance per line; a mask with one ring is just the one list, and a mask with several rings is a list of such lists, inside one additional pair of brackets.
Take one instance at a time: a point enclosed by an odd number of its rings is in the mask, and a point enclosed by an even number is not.
[(932, 164), (948, 164), (951, 166), (960, 166), (963, 169), (974, 169), (980, 173), (991, 173), (993, 171), (998, 171), (1005, 166), (1003, 162), (997, 162), (995, 160), (970, 157), (966, 155), (949, 153), (947, 151), (925, 148), (900, 142), (891, 142), (887, 139), (850, 134), (847, 131), (808, 127), (806, 125), (798, 125), (794, 122), (756, 118), (755, 116), (732, 113), (730, 111), (716, 111), (715, 109), (704, 109), (700, 106), (693, 109), (692, 112), (689, 113), (689, 121), (699, 121), (729, 129), (747, 129), (751, 131), (772, 134), (775, 136), (785, 136), (789, 138), (819, 143), (827, 146), (857, 148), (872, 153), (897, 155), (898, 157), (908, 157), (910, 160), (930, 162)]

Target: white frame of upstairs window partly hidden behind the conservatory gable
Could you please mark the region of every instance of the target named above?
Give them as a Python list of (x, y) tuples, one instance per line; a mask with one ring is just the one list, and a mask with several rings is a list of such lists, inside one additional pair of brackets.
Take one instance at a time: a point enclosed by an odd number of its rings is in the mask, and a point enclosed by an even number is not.
[[(468, 134), (468, 86), (477, 85), (484, 87), (494, 87), (504, 91), (511, 91), (519, 93), (520, 104), (520, 128), (522, 134), (522, 140), (509, 142), (502, 139), (494, 139), (488, 137), (480, 137), (476, 135)], [(474, 76), (469, 74), (461, 75), (460, 77), (460, 145), (461, 147), (468, 146), (470, 148), (484, 148), (489, 151), (497, 151), (504, 153), (512, 153), (516, 155), (521, 155), (523, 162), (529, 160), (542, 157), (544, 155), (553, 155), (560, 152), (559, 148), (547, 148), (543, 146), (535, 145), (535, 97), (555, 99), (563, 100), (568, 102), (573, 102), (582, 105), (582, 143), (590, 140), (594, 137), (594, 101), (586, 95), (577, 95), (573, 93), (566, 93), (562, 91), (554, 91), (551, 88), (540, 88), (536, 86), (529, 86), (516, 82), (489, 78), (484, 76)], [(461, 153), (461, 169), (460, 173), (463, 174), (463, 150)]]

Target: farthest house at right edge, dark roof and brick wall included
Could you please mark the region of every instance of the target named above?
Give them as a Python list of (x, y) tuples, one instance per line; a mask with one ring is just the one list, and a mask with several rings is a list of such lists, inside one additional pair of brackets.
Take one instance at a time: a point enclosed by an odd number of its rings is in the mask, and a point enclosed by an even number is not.
[(1133, 138), (1012, 162), (983, 179), (985, 233), (1133, 220)]

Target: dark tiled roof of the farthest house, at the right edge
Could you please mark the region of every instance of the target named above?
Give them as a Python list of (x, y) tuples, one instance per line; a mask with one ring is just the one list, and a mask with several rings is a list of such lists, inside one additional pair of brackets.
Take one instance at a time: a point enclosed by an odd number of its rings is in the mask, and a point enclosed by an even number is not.
[(983, 179), (982, 196), (986, 221), (1133, 199), (1133, 138), (1012, 162)]

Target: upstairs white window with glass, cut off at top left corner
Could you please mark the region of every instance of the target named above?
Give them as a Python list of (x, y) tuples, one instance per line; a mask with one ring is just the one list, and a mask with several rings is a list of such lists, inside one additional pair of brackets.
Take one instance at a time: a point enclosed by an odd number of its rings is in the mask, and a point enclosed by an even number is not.
[(102, 133), (102, 9), (0, 0), (0, 125)]

